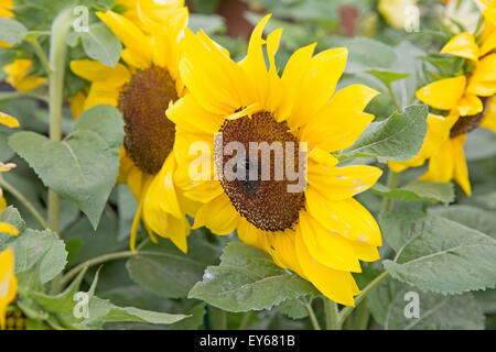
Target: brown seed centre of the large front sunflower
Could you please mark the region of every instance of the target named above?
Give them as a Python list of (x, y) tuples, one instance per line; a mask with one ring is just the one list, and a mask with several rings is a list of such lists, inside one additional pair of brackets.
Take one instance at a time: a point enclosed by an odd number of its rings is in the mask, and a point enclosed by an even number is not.
[[(299, 212), (304, 208), (304, 193), (289, 193), (288, 185), (295, 182), (289, 180), (287, 175), (282, 179), (274, 177), (276, 152), (270, 152), (270, 179), (265, 180), (261, 177), (261, 153), (258, 162), (254, 155), (249, 154), (250, 142), (267, 142), (269, 145), (273, 142), (280, 142), (283, 146), (283, 157), (285, 158), (287, 142), (293, 142), (294, 145), (294, 165), (298, 170), (299, 144), (298, 139), (288, 128), (285, 122), (277, 122), (270, 112), (262, 111), (251, 117), (242, 117), (237, 120), (228, 120), (220, 128), (223, 135), (223, 146), (229, 142), (239, 142), (247, 151), (247, 158), (244, 165), (246, 180), (228, 180), (225, 177), (220, 179), (224, 191), (229, 197), (233, 206), (246, 218), (248, 222), (256, 228), (265, 231), (283, 231), (292, 228), (298, 221)], [(223, 156), (224, 165), (231, 158), (230, 155)], [(285, 162), (285, 161), (284, 161)], [(258, 179), (248, 179), (250, 168), (258, 165)], [(284, 163), (285, 165), (285, 163)]]

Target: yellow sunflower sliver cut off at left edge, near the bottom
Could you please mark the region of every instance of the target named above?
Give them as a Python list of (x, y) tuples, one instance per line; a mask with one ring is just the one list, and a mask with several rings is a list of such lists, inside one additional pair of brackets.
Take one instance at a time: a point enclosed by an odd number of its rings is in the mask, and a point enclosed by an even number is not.
[(11, 249), (0, 252), (0, 329), (6, 329), (7, 307), (15, 298), (18, 279), (13, 273), (14, 256)]

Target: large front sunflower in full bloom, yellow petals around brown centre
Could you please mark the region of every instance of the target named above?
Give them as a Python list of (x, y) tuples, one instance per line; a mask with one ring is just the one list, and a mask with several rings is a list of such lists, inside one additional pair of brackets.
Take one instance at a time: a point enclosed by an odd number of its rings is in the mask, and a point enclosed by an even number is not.
[[(242, 241), (270, 253), (277, 265), (298, 273), (334, 301), (353, 306), (359, 289), (351, 272), (360, 272), (359, 260), (378, 260), (381, 245), (375, 219), (353, 196), (375, 184), (381, 170), (338, 167), (331, 152), (351, 146), (373, 121), (363, 109), (378, 92), (362, 85), (335, 92), (346, 48), (313, 56), (315, 44), (302, 47), (279, 76), (274, 55), (282, 31), (263, 40), (269, 18), (254, 30), (248, 55), (239, 63), (204, 32), (186, 30), (180, 72), (188, 92), (166, 112), (176, 124), (177, 183), (186, 197), (203, 204), (194, 228), (206, 226), (217, 234), (237, 230)], [(258, 180), (190, 176), (197, 157), (190, 155), (195, 142), (208, 146), (208, 163), (218, 175), (215, 135), (222, 136), (223, 146), (280, 142), (285, 165), (290, 160), (300, 165), (300, 142), (306, 142), (308, 187), (289, 191), (294, 182), (288, 175), (265, 180), (259, 170)], [(288, 142), (298, 146), (291, 151)], [(247, 158), (246, 165), (257, 157)], [(274, 160), (270, 163), (276, 173)]]

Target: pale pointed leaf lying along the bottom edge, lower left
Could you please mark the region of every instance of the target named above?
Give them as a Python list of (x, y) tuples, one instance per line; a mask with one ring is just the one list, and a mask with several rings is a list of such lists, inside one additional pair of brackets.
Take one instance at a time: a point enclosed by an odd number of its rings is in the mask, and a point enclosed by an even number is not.
[(170, 315), (133, 307), (117, 307), (109, 300), (93, 297), (89, 300), (89, 318), (76, 323), (79, 329), (101, 329), (104, 323), (114, 321), (136, 321), (150, 323), (174, 323), (188, 316)]

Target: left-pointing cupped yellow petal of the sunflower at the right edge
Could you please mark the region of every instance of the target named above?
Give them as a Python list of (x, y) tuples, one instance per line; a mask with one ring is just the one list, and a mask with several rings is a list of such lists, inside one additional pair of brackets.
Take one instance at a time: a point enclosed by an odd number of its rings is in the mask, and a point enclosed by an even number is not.
[(416, 96), (435, 109), (451, 110), (463, 97), (465, 86), (465, 76), (445, 78), (420, 88)]

